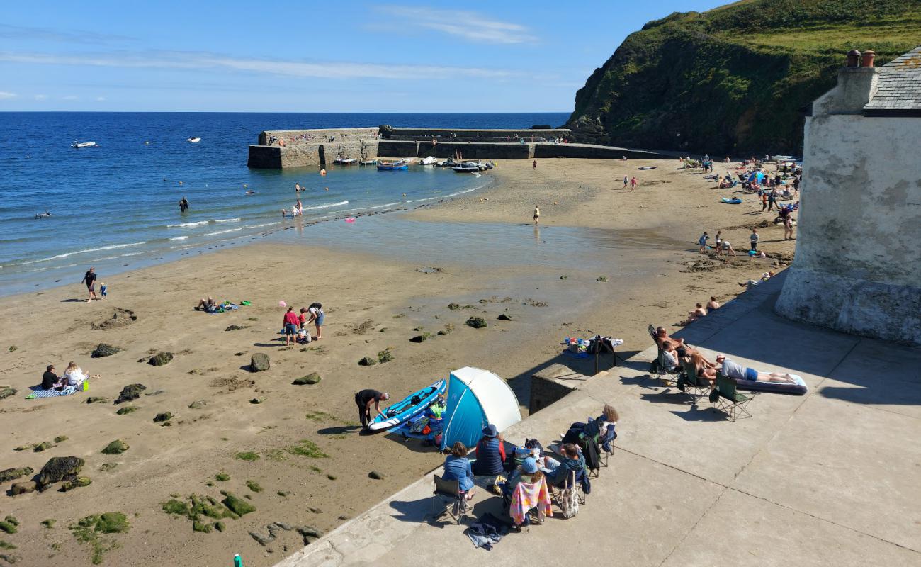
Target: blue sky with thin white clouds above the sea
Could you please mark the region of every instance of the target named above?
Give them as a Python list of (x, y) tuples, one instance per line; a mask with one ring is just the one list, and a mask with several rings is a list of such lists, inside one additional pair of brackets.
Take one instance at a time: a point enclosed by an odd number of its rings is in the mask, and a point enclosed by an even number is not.
[(571, 112), (629, 33), (721, 4), (4, 2), (0, 112)]

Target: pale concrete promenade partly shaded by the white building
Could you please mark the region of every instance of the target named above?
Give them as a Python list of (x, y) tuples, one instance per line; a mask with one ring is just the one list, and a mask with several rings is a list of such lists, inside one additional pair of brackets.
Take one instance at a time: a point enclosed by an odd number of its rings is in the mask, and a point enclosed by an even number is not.
[[(694, 406), (660, 387), (647, 348), (505, 433), (546, 445), (604, 403), (619, 410), (611, 467), (576, 517), (557, 513), (491, 551), (474, 549), (465, 526), (428, 518), (429, 476), (278, 566), (921, 565), (921, 350), (777, 316), (783, 279), (676, 336), (712, 356), (797, 373), (806, 396), (760, 394), (753, 417), (733, 423), (705, 399)], [(474, 515), (497, 514), (500, 499), (478, 490), (474, 502)]]

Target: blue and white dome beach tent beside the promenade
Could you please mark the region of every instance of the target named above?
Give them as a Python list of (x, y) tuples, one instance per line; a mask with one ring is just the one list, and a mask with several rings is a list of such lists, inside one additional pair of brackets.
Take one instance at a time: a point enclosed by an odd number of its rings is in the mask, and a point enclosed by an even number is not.
[(442, 449), (457, 441), (472, 447), (487, 424), (504, 431), (521, 420), (518, 397), (506, 381), (472, 366), (451, 372), (447, 402)]

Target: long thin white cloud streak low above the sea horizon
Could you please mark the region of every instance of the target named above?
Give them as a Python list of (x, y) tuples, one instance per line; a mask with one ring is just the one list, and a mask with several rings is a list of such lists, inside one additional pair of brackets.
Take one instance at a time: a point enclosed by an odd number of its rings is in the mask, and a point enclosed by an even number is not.
[(0, 52), (0, 61), (29, 65), (71, 65), (129, 68), (223, 69), (285, 77), (437, 79), (449, 77), (503, 78), (518, 72), (481, 67), (440, 65), (379, 65), (352, 62), (303, 62), (285, 59), (231, 57), (217, 53), (16, 53)]

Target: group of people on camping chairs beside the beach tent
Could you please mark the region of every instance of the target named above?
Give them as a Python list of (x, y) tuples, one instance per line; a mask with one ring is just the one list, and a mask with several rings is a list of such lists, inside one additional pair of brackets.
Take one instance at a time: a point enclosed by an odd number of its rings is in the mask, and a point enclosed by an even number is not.
[(489, 424), (476, 443), (474, 458), (461, 442), (450, 447), (442, 478), (457, 480), (460, 497), (467, 502), (474, 495), (474, 477), (495, 478), (492, 484), (501, 493), (503, 508), (514, 526), (527, 526), (531, 508), (541, 517), (549, 509), (549, 487), (575, 490), (578, 485), (584, 492), (590, 491), (589, 468), (598, 468), (599, 447), (612, 452), (617, 420), (617, 411), (605, 405), (597, 418), (573, 423), (555, 452), (560, 459), (550, 456), (536, 439), (507, 451), (505, 440), (495, 425)]

